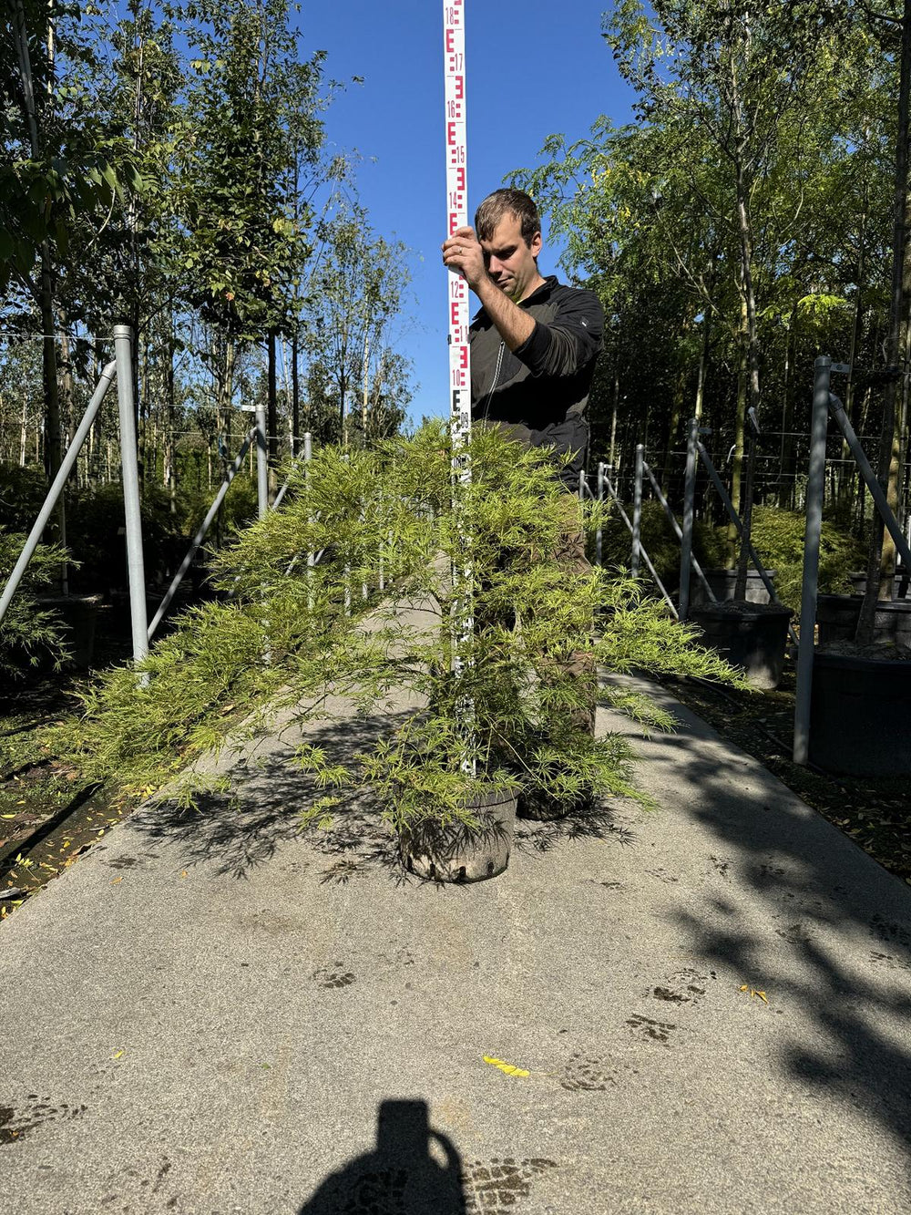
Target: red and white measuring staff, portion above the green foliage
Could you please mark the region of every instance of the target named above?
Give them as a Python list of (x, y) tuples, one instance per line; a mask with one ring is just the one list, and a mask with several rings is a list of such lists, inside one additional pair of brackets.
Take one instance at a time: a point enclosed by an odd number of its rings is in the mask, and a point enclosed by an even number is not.
[[(446, 210), (448, 236), (468, 225), (468, 139), (465, 126), (465, 5), (443, 4), (443, 67), (446, 73)], [(449, 391), (453, 459), (460, 480), (470, 476), (458, 451), (471, 435), (471, 364), (468, 347), (468, 283), (449, 271)], [(453, 468), (453, 473), (457, 469)]]

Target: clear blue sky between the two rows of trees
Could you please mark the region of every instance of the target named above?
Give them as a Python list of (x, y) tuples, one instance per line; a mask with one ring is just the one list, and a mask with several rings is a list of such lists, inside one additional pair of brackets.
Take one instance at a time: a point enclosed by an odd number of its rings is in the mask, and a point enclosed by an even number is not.
[[(629, 117), (630, 94), (600, 35), (610, 0), (465, 0), (469, 209), (513, 169), (537, 163), (544, 139)], [(412, 250), (411, 299), (396, 349), (413, 362), (411, 414), (447, 411), (446, 226), (441, 0), (323, 0), (298, 18), (304, 50), (326, 50), (327, 77), (364, 78), (326, 115), (328, 140), (357, 148), (358, 193), (373, 227)], [(547, 244), (547, 228), (544, 231)], [(543, 273), (556, 266), (545, 249)]]

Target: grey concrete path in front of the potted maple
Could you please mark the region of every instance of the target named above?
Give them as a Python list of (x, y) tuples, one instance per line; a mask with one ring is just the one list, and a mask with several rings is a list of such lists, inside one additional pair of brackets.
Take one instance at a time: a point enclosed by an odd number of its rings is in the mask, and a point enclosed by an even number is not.
[(905, 1215), (911, 889), (677, 711), (473, 887), (299, 837), (293, 738), (140, 810), (0, 928), (0, 1209)]

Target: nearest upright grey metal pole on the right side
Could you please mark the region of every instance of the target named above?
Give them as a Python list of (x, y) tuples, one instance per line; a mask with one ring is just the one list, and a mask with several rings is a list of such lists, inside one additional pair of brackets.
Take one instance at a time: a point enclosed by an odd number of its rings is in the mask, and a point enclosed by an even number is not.
[(810, 696), (813, 694), (813, 652), (816, 632), (816, 586), (819, 582), (819, 544), (822, 533), (822, 501), (826, 492), (826, 424), (828, 422), (828, 383), (832, 360), (821, 355), (813, 379), (813, 419), (810, 422), (810, 467), (807, 477), (807, 529), (803, 542), (803, 590), (800, 593), (800, 640), (797, 648), (797, 697), (794, 701), (794, 763), (805, 764), (810, 756)]

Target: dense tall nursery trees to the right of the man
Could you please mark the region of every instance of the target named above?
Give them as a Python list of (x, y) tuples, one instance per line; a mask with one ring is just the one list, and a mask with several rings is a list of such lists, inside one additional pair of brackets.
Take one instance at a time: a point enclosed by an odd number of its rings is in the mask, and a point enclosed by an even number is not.
[[(799, 509), (825, 352), (854, 368), (833, 389), (875, 464), (884, 428), (896, 505), (907, 375), (864, 373), (907, 367), (911, 5), (616, 0), (604, 38), (633, 120), (554, 135), (547, 163), (515, 175), (605, 304), (594, 459), (623, 480), (644, 442), (679, 501), (697, 416), (742, 504), (753, 408), (757, 499)], [(837, 443), (830, 457), (828, 509), (858, 526), (853, 463)]]

